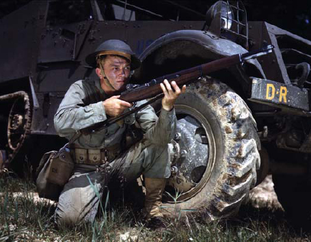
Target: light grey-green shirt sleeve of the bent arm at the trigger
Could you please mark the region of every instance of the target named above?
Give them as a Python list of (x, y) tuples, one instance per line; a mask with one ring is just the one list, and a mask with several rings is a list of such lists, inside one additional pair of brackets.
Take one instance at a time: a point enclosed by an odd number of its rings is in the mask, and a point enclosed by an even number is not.
[(70, 85), (54, 116), (55, 130), (60, 136), (71, 136), (80, 129), (107, 119), (103, 102), (84, 106), (83, 98), (82, 81)]

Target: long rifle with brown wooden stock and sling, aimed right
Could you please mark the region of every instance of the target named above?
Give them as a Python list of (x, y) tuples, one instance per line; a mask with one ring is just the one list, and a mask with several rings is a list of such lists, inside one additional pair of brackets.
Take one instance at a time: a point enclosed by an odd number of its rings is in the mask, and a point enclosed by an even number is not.
[(189, 84), (189, 83), (196, 81), (199, 77), (202, 77), (203, 75), (206, 75), (208, 73), (215, 72), (217, 70), (221, 70), (224, 68), (228, 68), (235, 64), (241, 64), (245, 62), (247, 59), (254, 59), (261, 55), (266, 55), (267, 53), (271, 53), (273, 48), (274, 48), (273, 45), (268, 45), (256, 51), (249, 51), (248, 53), (244, 53), (244, 54), (231, 55), (228, 57), (217, 59), (213, 62), (208, 62), (206, 64), (195, 66), (193, 68), (189, 68), (186, 70), (180, 70), (178, 72), (175, 72), (169, 75), (164, 75), (162, 77), (152, 79), (151, 81), (143, 85), (133, 85), (133, 84), (126, 85), (126, 91), (122, 92), (120, 95), (121, 100), (124, 100), (128, 103), (135, 103), (139, 100), (145, 100), (148, 98), (151, 98), (151, 99), (147, 103), (144, 103), (144, 105), (135, 107), (131, 111), (122, 113), (120, 116), (117, 116), (115, 118), (109, 118), (103, 122), (92, 124), (91, 126), (81, 129), (80, 133), (85, 135), (85, 134), (93, 133), (95, 131), (99, 131), (100, 129), (105, 129), (107, 126), (115, 122), (118, 122), (119, 120), (124, 119), (126, 116), (129, 116), (131, 113), (135, 113), (143, 109), (144, 107), (146, 107), (150, 103), (153, 103), (159, 98), (163, 98), (164, 95), (162, 93), (160, 83), (162, 83), (165, 79), (167, 79), (167, 81), (169, 82), (174, 80), (176, 81), (176, 84), (179, 87), (181, 87), (182, 85)]

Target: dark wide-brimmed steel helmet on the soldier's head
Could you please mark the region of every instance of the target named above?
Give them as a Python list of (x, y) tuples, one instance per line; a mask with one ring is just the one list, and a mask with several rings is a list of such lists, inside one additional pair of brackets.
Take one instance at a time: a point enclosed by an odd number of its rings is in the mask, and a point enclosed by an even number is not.
[(140, 59), (133, 53), (129, 44), (126, 44), (122, 40), (106, 40), (97, 47), (94, 53), (85, 57), (85, 62), (96, 68), (96, 58), (98, 55), (121, 55), (131, 62), (131, 70), (139, 68), (141, 64)]

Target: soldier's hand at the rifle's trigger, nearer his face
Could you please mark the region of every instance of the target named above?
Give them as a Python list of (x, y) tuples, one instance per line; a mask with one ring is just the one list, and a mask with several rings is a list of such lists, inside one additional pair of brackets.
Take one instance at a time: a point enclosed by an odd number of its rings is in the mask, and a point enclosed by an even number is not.
[(108, 116), (116, 117), (123, 113), (123, 111), (133, 105), (131, 103), (127, 103), (124, 100), (120, 100), (119, 96), (111, 96), (103, 101), (103, 106), (105, 108), (105, 112)]

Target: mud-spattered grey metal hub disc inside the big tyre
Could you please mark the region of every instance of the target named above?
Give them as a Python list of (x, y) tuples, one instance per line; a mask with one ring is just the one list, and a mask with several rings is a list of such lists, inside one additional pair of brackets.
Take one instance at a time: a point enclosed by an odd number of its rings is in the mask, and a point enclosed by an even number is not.
[(195, 118), (178, 120), (170, 150), (172, 169), (167, 189), (185, 193), (200, 183), (208, 162), (206, 133)]

